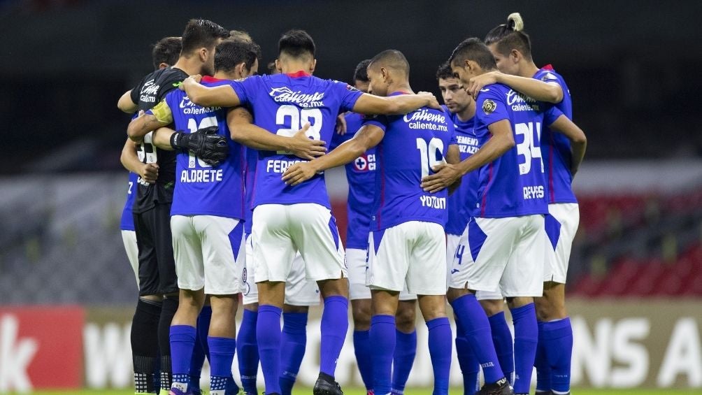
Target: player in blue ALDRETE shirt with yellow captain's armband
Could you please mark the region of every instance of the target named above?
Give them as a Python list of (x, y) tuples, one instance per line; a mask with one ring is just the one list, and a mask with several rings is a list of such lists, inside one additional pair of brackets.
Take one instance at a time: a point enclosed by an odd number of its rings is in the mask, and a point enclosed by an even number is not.
[[(258, 53), (260, 49), (254, 43), (223, 41), (216, 49), (216, 78), (205, 77), (205, 83), (217, 86), (227, 83), (228, 79), (242, 79), (255, 74), (258, 69)], [(227, 135), (227, 125), (232, 124), (234, 112), (238, 110), (234, 109), (227, 114), (220, 107), (198, 107), (189, 102), (183, 91), (172, 92), (166, 95), (164, 102), (147, 112), (146, 116), (133, 121), (128, 131), (130, 135), (140, 135), (152, 128), (171, 123), (175, 117), (176, 128), (190, 129), (191, 135), (195, 133), (196, 128), (211, 126), (208, 125), (209, 123), (217, 123), (220, 135)], [(300, 137), (297, 139), (270, 135), (265, 130), (258, 130), (258, 133), (264, 133), (265, 138), (270, 136), (270, 140), (295, 140), (300, 142), (302, 147), (314, 147), (321, 143), (312, 142), (304, 133), (299, 133)], [(234, 140), (238, 137), (232, 133)], [(157, 147), (176, 148), (176, 142), (183, 138), (185, 138), (183, 133), (159, 129), (154, 143)], [(177, 187), (171, 218), (173, 242), (176, 246), (176, 267), (181, 288), (181, 304), (171, 326), (174, 358), (176, 353), (179, 357), (173, 360), (175, 377), (171, 388), (173, 394), (190, 390), (185, 382), (187, 363), (190, 361), (187, 356), (192, 353), (194, 320), (205, 294), (210, 295), (213, 306), (208, 337), (213, 373), (211, 391), (213, 394), (218, 394), (218, 391), (224, 391), (225, 387), (227, 393), (238, 391), (232, 381), (230, 369), (236, 347), (233, 320), (237, 309), (235, 294), (244, 286), (244, 276), (246, 276), (244, 251), (240, 250), (244, 247), (243, 219), (246, 207), (243, 195), (243, 147), (234, 142), (230, 142), (230, 146), (232, 155), (220, 166), (215, 167), (192, 155), (189, 158), (186, 153), (179, 156), (180, 178), (176, 179)], [(264, 148), (288, 147), (289, 144), (286, 141), (284, 145), (266, 145)], [(298, 149), (294, 150), (298, 151)], [(192, 206), (190, 202), (194, 200), (202, 203), (199, 206)], [(231, 246), (227, 247), (230, 243)], [(232, 257), (234, 262), (231, 262)], [(236, 268), (237, 266), (240, 267)], [(237, 290), (237, 292), (223, 293), (223, 289)], [(318, 301), (319, 297), (314, 290), (312, 294)]]

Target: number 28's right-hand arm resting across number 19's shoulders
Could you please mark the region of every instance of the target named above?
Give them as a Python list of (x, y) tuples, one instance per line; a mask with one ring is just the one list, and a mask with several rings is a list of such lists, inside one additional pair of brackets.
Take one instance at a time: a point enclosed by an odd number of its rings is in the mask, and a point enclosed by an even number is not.
[(441, 109), (439, 101), (432, 93), (420, 92), (416, 95), (397, 95), (386, 98), (364, 93), (353, 107), (353, 112), (359, 114), (402, 115), (421, 107)]

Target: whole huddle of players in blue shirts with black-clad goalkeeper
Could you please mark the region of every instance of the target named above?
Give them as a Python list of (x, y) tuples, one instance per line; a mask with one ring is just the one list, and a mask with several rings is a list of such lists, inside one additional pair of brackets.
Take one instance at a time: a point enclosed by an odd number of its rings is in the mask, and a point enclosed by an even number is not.
[[(207, 359), (210, 394), (258, 394), (259, 363), (265, 394), (291, 394), (321, 299), (314, 394), (343, 394), (349, 300), (368, 394), (404, 393), (417, 305), (433, 394), (449, 393), (454, 338), (464, 394), (529, 394), (534, 366), (536, 394), (569, 394), (564, 283), (586, 140), (522, 27), (512, 14), (458, 44), (436, 75), (444, 105), (413, 93), (395, 50), (359, 62), (350, 85), (312, 76), (303, 30), (281, 36), (267, 74), (248, 34), (208, 20), (159, 41), (156, 71), (118, 104), (134, 114), (121, 161), (135, 393), (201, 394)], [(345, 246), (324, 180), (337, 166)]]

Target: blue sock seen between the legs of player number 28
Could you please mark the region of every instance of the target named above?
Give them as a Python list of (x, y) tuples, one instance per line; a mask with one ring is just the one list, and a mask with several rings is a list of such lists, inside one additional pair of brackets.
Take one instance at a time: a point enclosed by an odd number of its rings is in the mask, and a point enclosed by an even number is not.
[(307, 347), (307, 313), (283, 313), (280, 389), (291, 395)]

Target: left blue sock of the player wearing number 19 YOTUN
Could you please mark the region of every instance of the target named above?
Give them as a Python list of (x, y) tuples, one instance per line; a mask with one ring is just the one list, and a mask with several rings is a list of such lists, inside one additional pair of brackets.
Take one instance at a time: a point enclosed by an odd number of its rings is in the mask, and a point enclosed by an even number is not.
[(371, 317), (369, 343), (373, 344), (371, 361), (373, 366), (373, 391), (376, 394), (390, 392), (392, 377), (392, 354), (395, 353), (395, 316)]

